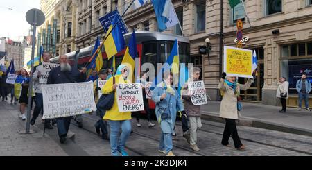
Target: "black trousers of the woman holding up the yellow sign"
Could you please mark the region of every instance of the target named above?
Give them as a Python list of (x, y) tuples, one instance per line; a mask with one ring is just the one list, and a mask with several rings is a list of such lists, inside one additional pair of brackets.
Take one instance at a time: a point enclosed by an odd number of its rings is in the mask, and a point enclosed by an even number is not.
[(241, 139), (239, 139), (239, 134), (237, 133), (235, 119), (225, 119), (225, 128), (222, 137), (222, 144), (229, 144), (229, 137), (232, 136), (235, 148), (240, 148), (243, 144)]

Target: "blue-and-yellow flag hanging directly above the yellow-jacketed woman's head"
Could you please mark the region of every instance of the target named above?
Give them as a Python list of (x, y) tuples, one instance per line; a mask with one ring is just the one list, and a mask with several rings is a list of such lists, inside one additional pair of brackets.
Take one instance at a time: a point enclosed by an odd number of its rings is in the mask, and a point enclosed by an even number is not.
[(125, 56), (123, 56), (123, 61), (121, 62), (123, 65), (128, 65), (129, 78), (132, 78), (132, 74), (135, 71), (135, 58), (137, 57), (137, 40), (135, 38), (135, 31), (133, 31), (129, 45), (125, 50)]

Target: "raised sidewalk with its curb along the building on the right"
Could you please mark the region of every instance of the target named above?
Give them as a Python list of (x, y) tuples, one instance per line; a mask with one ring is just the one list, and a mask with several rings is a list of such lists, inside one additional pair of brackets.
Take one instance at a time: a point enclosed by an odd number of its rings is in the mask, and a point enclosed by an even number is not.
[[(241, 125), (312, 136), (312, 112), (287, 108), (286, 113), (280, 113), (281, 107), (277, 106), (250, 102), (243, 102), (242, 105)], [(219, 110), (220, 102), (209, 101), (207, 105), (202, 105), (202, 117), (223, 121), (219, 117)]]

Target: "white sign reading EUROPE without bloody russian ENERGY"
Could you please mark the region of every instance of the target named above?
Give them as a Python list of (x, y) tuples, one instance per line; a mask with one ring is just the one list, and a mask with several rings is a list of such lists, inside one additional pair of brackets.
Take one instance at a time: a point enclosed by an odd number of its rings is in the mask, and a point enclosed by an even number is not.
[(119, 112), (143, 111), (144, 103), (141, 84), (119, 84), (117, 87), (117, 103)]

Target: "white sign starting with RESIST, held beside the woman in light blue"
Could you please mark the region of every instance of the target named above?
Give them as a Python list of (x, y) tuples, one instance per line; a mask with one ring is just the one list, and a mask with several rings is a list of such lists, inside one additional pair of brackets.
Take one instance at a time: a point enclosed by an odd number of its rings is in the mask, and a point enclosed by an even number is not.
[(189, 94), (193, 105), (205, 105), (208, 103), (204, 81), (189, 82)]

